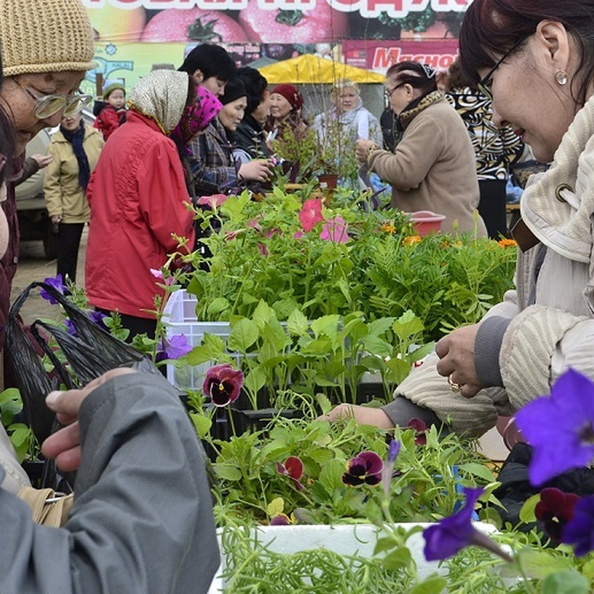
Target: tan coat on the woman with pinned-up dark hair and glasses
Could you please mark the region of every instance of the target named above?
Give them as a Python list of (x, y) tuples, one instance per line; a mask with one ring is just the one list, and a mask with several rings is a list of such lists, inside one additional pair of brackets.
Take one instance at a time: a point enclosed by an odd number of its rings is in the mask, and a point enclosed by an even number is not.
[[(453, 230), (454, 220), (460, 232), (475, 229), (479, 204), (475, 151), (462, 118), (445, 99), (416, 113), (394, 153), (371, 151), (368, 167), (391, 184), (393, 207), (444, 214), (443, 232)], [(480, 216), (477, 232), (486, 236)]]

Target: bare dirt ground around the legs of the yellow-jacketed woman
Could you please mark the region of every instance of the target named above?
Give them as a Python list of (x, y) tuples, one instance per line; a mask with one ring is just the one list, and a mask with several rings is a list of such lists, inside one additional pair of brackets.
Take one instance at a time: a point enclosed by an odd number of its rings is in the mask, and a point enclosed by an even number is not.
[[(80, 249), (78, 251), (77, 285), (84, 286), (84, 257), (87, 247), (88, 227), (83, 231)], [(11, 303), (26, 287), (36, 281), (42, 281), (49, 276), (56, 276), (56, 261), (43, 257), (43, 245), (40, 241), (21, 241), (18, 258), (17, 274), (12, 281)], [(21, 308), (23, 321), (30, 324), (37, 318), (53, 319), (58, 313), (58, 306), (39, 296), (39, 289), (34, 289)]]

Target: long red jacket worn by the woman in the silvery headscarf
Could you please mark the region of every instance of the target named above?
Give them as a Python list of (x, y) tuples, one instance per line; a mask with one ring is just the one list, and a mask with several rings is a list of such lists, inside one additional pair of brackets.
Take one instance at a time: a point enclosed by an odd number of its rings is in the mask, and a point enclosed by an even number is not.
[(163, 291), (150, 272), (176, 251), (172, 233), (194, 245), (184, 170), (172, 140), (149, 118), (129, 112), (103, 147), (87, 187), (91, 207), (85, 286), (94, 307), (153, 318)]

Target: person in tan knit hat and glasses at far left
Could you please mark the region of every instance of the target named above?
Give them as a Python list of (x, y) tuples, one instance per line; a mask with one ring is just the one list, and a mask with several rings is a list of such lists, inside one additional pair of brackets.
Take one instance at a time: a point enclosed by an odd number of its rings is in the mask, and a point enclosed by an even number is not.
[[(80, 112), (92, 98), (78, 88), (94, 68), (93, 31), (79, 0), (0, 0), (0, 44), (4, 84), (0, 108), (10, 121), (15, 159), (8, 179), (20, 176), (26, 144), (37, 132), (57, 126), (63, 115)], [(10, 229), (0, 260), (0, 348), (4, 347), (10, 291), (18, 261), (14, 184), (2, 203)], [(4, 375), (4, 374), (2, 374)], [(9, 383), (11, 380), (7, 378)]]

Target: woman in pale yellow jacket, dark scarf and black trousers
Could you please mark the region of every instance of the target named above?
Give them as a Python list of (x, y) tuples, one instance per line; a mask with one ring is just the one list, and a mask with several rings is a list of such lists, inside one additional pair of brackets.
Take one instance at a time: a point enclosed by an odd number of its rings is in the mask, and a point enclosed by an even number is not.
[(85, 195), (103, 147), (99, 130), (84, 123), (80, 113), (64, 116), (52, 136), (48, 155), (53, 159), (43, 176), (45, 204), (58, 226), (58, 274), (76, 282), (78, 247), (90, 208)]

